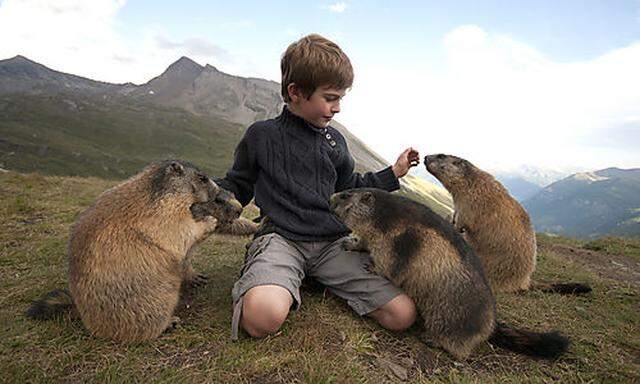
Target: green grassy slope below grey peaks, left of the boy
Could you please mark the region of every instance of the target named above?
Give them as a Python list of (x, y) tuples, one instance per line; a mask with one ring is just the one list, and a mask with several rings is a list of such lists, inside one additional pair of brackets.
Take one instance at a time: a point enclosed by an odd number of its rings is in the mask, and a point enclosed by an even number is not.
[(181, 158), (224, 175), (243, 131), (221, 119), (133, 102), (0, 96), (0, 167), (122, 179), (151, 161)]

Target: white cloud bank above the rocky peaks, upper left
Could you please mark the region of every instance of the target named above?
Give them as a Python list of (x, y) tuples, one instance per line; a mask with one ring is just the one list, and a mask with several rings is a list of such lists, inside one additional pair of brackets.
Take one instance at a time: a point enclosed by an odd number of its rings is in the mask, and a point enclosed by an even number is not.
[[(114, 83), (144, 83), (180, 56), (226, 72), (260, 76), (250, 58), (203, 37), (179, 41), (149, 25), (122, 30), (125, 0), (5, 0), (0, 2), (0, 59), (23, 55), (52, 69)], [(224, 28), (251, 28), (241, 20)]]

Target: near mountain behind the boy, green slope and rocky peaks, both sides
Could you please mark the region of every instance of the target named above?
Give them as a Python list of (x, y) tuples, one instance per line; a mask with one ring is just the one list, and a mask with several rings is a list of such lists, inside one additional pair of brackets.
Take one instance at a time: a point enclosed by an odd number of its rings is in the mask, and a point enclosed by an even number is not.
[[(244, 129), (278, 115), (280, 85), (232, 76), (182, 57), (142, 85), (111, 84), (47, 68), (23, 56), (0, 61), (0, 168), (124, 178), (169, 157), (223, 175)], [(359, 171), (388, 164), (333, 122)], [(408, 176), (403, 193), (444, 216), (441, 187)]]

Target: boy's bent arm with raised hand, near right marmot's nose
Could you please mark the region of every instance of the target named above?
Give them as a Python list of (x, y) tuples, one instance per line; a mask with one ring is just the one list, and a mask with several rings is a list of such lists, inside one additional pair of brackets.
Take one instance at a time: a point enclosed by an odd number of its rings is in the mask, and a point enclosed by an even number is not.
[(348, 153), (344, 157), (343, 163), (338, 167), (338, 181), (336, 192), (351, 188), (380, 188), (392, 192), (400, 189), (398, 179), (409, 171), (409, 168), (416, 166), (420, 161), (419, 154), (413, 148), (407, 148), (393, 166), (387, 167), (379, 172), (366, 172), (360, 174), (354, 172), (354, 160)]

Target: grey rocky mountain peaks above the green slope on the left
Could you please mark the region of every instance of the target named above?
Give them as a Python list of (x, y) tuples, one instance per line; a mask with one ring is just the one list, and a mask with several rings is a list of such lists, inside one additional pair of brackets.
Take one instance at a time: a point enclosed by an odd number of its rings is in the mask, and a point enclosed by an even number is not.
[(160, 76), (138, 86), (70, 75), (16, 56), (0, 61), (0, 94), (17, 93), (69, 93), (125, 102), (133, 99), (245, 125), (276, 116), (283, 106), (278, 83), (228, 75), (187, 57), (181, 57)]

